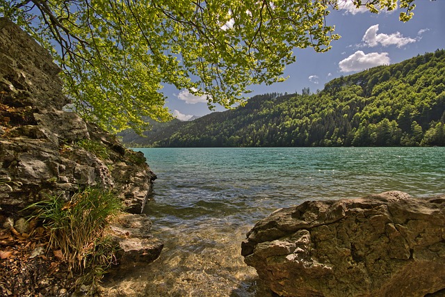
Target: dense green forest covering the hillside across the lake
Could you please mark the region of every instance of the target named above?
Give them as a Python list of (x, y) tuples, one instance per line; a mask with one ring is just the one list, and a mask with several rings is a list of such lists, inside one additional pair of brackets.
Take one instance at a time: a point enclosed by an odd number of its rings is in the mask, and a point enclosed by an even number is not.
[(339, 77), (302, 95), (259, 95), (192, 122), (154, 124), (143, 147), (445, 145), (445, 51)]

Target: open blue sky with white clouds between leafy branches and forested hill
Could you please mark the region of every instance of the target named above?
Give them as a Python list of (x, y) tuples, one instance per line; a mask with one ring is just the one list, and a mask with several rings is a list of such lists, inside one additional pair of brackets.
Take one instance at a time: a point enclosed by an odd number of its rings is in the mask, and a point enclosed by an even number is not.
[[(350, 1), (350, 0), (348, 0)], [(335, 25), (339, 40), (332, 49), (316, 53), (314, 49), (295, 49), (296, 63), (288, 65), (284, 77), (289, 79), (270, 86), (251, 86), (254, 95), (265, 93), (301, 93), (303, 88), (312, 92), (323, 90), (325, 83), (370, 67), (390, 65), (408, 58), (445, 49), (445, 0), (416, 0), (414, 17), (409, 22), (398, 20), (401, 10), (378, 15), (365, 9), (357, 10), (346, 3), (327, 17), (328, 25)], [(193, 115), (211, 113), (204, 97), (196, 97), (187, 90), (165, 86), (167, 106), (179, 120)], [(215, 111), (224, 111), (217, 106)]]

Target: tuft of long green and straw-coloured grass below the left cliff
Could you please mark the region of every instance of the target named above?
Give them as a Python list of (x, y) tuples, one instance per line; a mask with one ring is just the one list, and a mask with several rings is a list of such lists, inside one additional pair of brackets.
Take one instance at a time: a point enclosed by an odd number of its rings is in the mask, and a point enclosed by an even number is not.
[(70, 201), (51, 196), (37, 202), (33, 218), (49, 230), (49, 246), (61, 250), (71, 269), (83, 271), (83, 282), (95, 283), (110, 266), (116, 247), (104, 233), (111, 217), (122, 209), (120, 200), (99, 188), (86, 188)]

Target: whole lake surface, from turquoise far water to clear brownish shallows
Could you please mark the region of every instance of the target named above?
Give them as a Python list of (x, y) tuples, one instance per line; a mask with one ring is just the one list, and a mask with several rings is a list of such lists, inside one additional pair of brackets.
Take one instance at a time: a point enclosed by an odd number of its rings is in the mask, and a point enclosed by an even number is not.
[(138, 272), (147, 296), (270, 296), (239, 252), (245, 232), (275, 209), (391, 190), (445, 193), (445, 147), (140, 151), (158, 176), (145, 213), (165, 240), (161, 258)]

